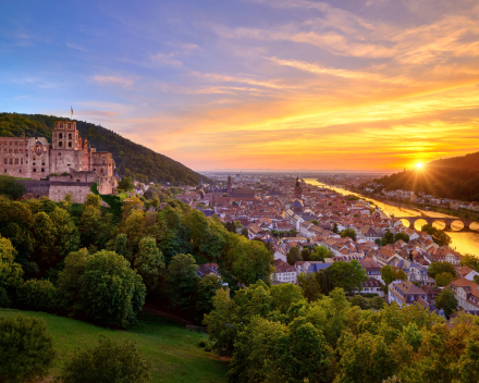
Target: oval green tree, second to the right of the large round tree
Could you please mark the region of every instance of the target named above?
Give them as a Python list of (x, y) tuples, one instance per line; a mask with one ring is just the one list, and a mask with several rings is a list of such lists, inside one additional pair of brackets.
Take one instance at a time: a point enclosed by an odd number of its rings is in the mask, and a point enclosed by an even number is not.
[(191, 307), (198, 275), (198, 265), (189, 254), (179, 254), (171, 259), (168, 268), (168, 284), (170, 286), (170, 301), (182, 310)]

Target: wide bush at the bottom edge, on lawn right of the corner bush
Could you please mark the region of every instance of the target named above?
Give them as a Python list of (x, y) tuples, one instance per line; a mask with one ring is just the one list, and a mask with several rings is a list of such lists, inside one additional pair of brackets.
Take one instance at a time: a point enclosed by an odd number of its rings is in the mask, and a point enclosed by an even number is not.
[(65, 365), (58, 381), (63, 383), (149, 382), (151, 365), (142, 357), (135, 343), (114, 342), (100, 336), (98, 345), (77, 350)]

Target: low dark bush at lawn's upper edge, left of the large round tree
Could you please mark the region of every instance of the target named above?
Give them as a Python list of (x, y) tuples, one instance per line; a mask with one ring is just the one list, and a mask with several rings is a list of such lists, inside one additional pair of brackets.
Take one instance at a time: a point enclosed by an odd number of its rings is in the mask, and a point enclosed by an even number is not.
[(50, 281), (29, 280), (17, 291), (17, 305), (24, 310), (49, 311), (57, 310), (59, 294)]

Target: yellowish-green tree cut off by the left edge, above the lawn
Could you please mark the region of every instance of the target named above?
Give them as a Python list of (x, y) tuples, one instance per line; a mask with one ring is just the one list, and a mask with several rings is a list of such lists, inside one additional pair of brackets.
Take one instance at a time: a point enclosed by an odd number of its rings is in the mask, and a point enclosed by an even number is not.
[(23, 270), (16, 263), (12, 243), (0, 235), (0, 307), (9, 307), (15, 289), (22, 284)]

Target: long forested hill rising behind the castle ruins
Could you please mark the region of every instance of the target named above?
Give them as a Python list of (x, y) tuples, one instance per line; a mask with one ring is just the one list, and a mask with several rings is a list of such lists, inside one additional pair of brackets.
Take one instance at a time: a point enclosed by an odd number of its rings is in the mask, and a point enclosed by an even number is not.
[[(0, 137), (46, 137), (51, 141), (54, 115), (0, 113)], [(76, 121), (76, 120), (73, 120)], [(121, 175), (142, 182), (170, 182), (173, 185), (197, 185), (200, 175), (171, 158), (123, 138), (100, 125), (76, 121), (83, 138), (97, 151), (110, 151)], [(204, 178), (207, 181), (207, 178)]]

